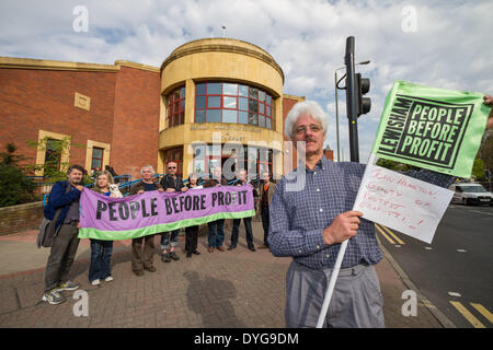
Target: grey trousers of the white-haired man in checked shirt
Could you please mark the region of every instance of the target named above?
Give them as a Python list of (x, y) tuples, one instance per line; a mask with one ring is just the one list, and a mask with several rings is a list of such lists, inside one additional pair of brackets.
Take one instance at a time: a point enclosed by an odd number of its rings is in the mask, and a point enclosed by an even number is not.
[[(332, 269), (313, 270), (295, 260), (286, 275), (286, 327), (317, 327)], [(372, 266), (341, 269), (326, 313), (328, 328), (383, 328), (383, 298)]]

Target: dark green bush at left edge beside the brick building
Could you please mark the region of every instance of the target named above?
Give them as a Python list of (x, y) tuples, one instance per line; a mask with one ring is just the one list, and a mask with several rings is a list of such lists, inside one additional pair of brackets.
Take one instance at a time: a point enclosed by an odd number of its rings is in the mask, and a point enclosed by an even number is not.
[(36, 185), (26, 176), (18, 162), (16, 147), (8, 143), (5, 152), (0, 153), (0, 207), (15, 206), (33, 198)]

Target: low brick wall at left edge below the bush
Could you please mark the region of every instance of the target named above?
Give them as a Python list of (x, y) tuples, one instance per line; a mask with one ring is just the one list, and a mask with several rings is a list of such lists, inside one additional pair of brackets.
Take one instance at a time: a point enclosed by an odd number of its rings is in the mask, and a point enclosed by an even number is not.
[(0, 236), (39, 228), (43, 201), (0, 208)]

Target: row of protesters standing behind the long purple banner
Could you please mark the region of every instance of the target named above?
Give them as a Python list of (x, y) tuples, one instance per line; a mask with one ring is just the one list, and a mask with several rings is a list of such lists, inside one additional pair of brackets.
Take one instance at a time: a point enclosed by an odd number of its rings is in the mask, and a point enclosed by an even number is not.
[[(167, 174), (159, 179), (156, 177), (151, 165), (144, 165), (140, 170), (141, 178), (130, 187), (130, 195), (141, 195), (145, 191), (158, 190), (160, 192), (174, 192), (208, 188), (216, 186), (251, 186), (253, 195), (260, 197), (259, 211), (262, 215), (264, 230), (264, 242), (259, 248), (268, 248), (268, 203), (274, 194), (275, 184), (271, 182), (268, 172), (262, 174), (262, 184), (257, 188), (251, 184), (245, 170), (237, 172), (237, 179), (228, 183), (222, 177), (221, 166), (213, 168), (211, 178), (202, 182), (196, 173), (192, 173), (187, 180), (176, 174), (176, 162), (168, 162)], [(51, 252), (48, 257), (45, 273), (45, 293), (43, 301), (49, 304), (59, 304), (65, 301), (60, 293), (64, 290), (76, 290), (79, 284), (68, 279), (68, 273), (73, 264), (74, 256), (79, 246), (78, 224), (79, 224), (79, 199), (82, 190), (88, 188), (82, 186), (84, 168), (80, 165), (72, 165), (67, 172), (67, 180), (58, 182), (54, 185), (47, 205), (45, 206), (45, 217), (54, 220), (56, 217), (56, 236), (53, 242)], [(199, 182), (203, 183), (199, 185)], [(94, 174), (94, 184), (92, 190), (104, 196), (114, 197), (110, 191), (110, 185), (114, 183), (112, 173), (107, 170)], [(57, 215), (55, 213), (59, 211)], [(233, 219), (231, 232), (231, 244), (228, 250), (237, 247), (239, 238), (239, 228), (241, 219)], [(255, 252), (253, 244), (252, 217), (243, 218), (246, 233), (248, 248)], [(208, 226), (208, 248), (207, 252), (214, 253), (216, 249), (225, 252), (223, 246), (225, 219), (219, 219), (207, 223)], [(185, 252), (186, 257), (200, 255), (197, 249), (198, 225), (185, 228)], [(177, 245), (179, 230), (162, 232), (160, 241), (161, 260), (163, 262), (176, 261), (180, 259), (175, 249)], [(144, 271), (156, 272), (153, 265), (153, 255), (156, 234), (146, 235), (131, 240), (131, 270), (136, 276), (144, 276)], [(113, 253), (113, 241), (91, 238), (91, 260), (89, 266), (89, 282), (92, 285), (99, 285), (102, 282), (113, 281), (111, 271), (111, 258)]]

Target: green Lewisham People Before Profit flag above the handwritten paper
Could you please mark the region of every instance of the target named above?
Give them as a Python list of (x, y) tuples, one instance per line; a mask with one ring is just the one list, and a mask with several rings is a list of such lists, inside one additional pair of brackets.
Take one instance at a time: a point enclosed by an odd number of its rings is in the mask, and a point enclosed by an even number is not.
[(371, 153), (470, 177), (490, 110), (481, 93), (398, 80), (387, 95)]

